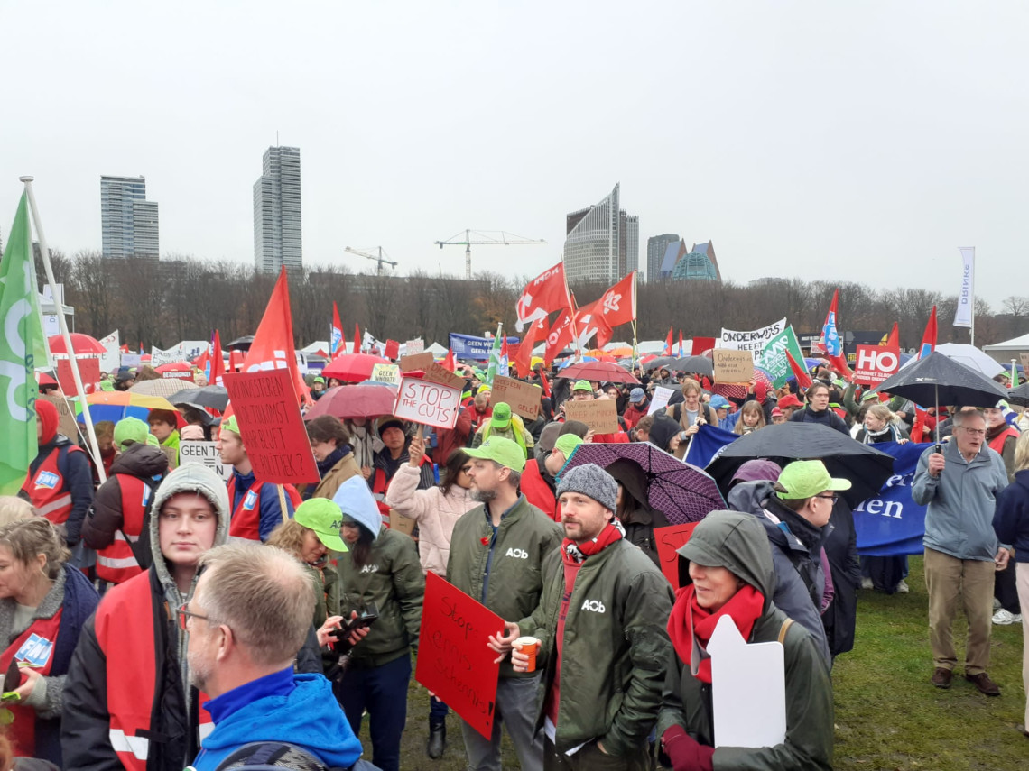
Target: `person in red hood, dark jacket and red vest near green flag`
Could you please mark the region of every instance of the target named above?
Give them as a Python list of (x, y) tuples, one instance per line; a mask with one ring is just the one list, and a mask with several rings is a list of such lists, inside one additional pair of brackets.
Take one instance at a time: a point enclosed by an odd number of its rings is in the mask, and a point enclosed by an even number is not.
[(93, 505), (93, 471), (82, 448), (58, 433), (58, 408), (42, 399), (36, 400), (35, 407), (39, 451), (29, 465), (19, 495), (40, 516), (63, 524), (65, 543), (74, 549)]

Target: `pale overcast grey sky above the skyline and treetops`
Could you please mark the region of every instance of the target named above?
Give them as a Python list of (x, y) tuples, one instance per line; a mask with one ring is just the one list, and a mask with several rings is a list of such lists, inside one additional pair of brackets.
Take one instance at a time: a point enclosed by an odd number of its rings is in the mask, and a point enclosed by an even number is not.
[[(261, 154), (300, 148), (307, 264), (382, 245), (510, 276), (622, 182), (647, 236), (723, 277), (1029, 294), (1023, 2), (0, 0), (0, 228), (21, 185), (51, 246), (99, 249), (100, 176), (145, 175), (163, 255), (252, 264)], [(364, 263), (364, 264), (362, 264)]]

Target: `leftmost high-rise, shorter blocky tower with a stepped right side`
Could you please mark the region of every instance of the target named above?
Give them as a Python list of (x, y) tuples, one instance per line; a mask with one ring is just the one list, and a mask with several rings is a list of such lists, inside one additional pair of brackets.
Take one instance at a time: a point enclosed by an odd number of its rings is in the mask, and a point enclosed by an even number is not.
[(146, 199), (146, 177), (100, 178), (104, 257), (157, 257), (157, 203)]

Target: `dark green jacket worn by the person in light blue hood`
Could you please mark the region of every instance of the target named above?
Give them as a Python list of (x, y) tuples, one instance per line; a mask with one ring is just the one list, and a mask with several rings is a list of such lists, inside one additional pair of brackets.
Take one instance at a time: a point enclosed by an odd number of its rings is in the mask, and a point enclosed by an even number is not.
[(348, 552), (339, 555), (336, 568), (340, 613), (345, 618), (350, 618), (351, 611), (360, 614), (370, 602), (379, 608), (379, 620), (368, 636), (354, 646), (353, 665), (381, 666), (417, 649), (425, 575), (411, 537), (384, 525), (371, 544), (366, 565), (356, 566), (353, 552)]

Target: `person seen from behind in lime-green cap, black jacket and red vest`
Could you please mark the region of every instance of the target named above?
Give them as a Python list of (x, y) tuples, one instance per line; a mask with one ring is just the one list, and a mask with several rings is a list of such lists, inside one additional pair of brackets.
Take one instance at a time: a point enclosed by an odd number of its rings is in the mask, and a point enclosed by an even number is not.
[[(128, 420), (136, 423), (122, 427)], [(134, 438), (129, 438), (127, 434), (133, 430)], [(139, 563), (133, 544), (143, 535), (154, 490), (168, 473), (168, 455), (146, 443), (146, 424), (142, 420), (118, 420), (114, 433), (121, 440), (119, 449), (123, 449), (111, 465), (111, 475), (97, 490), (82, 524), (82, 540), (97, 550), (97, 578), (121, 584), (150, 566)]]

